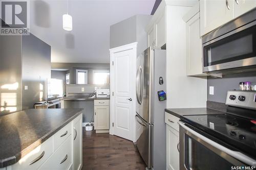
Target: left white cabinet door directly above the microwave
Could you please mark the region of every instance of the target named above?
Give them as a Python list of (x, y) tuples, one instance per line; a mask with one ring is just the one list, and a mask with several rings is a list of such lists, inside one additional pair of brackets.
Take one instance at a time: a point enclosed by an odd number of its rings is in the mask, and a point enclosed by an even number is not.
[(234, 0), (200, 1), (201, 36), (233, 19), (233, 2)]

